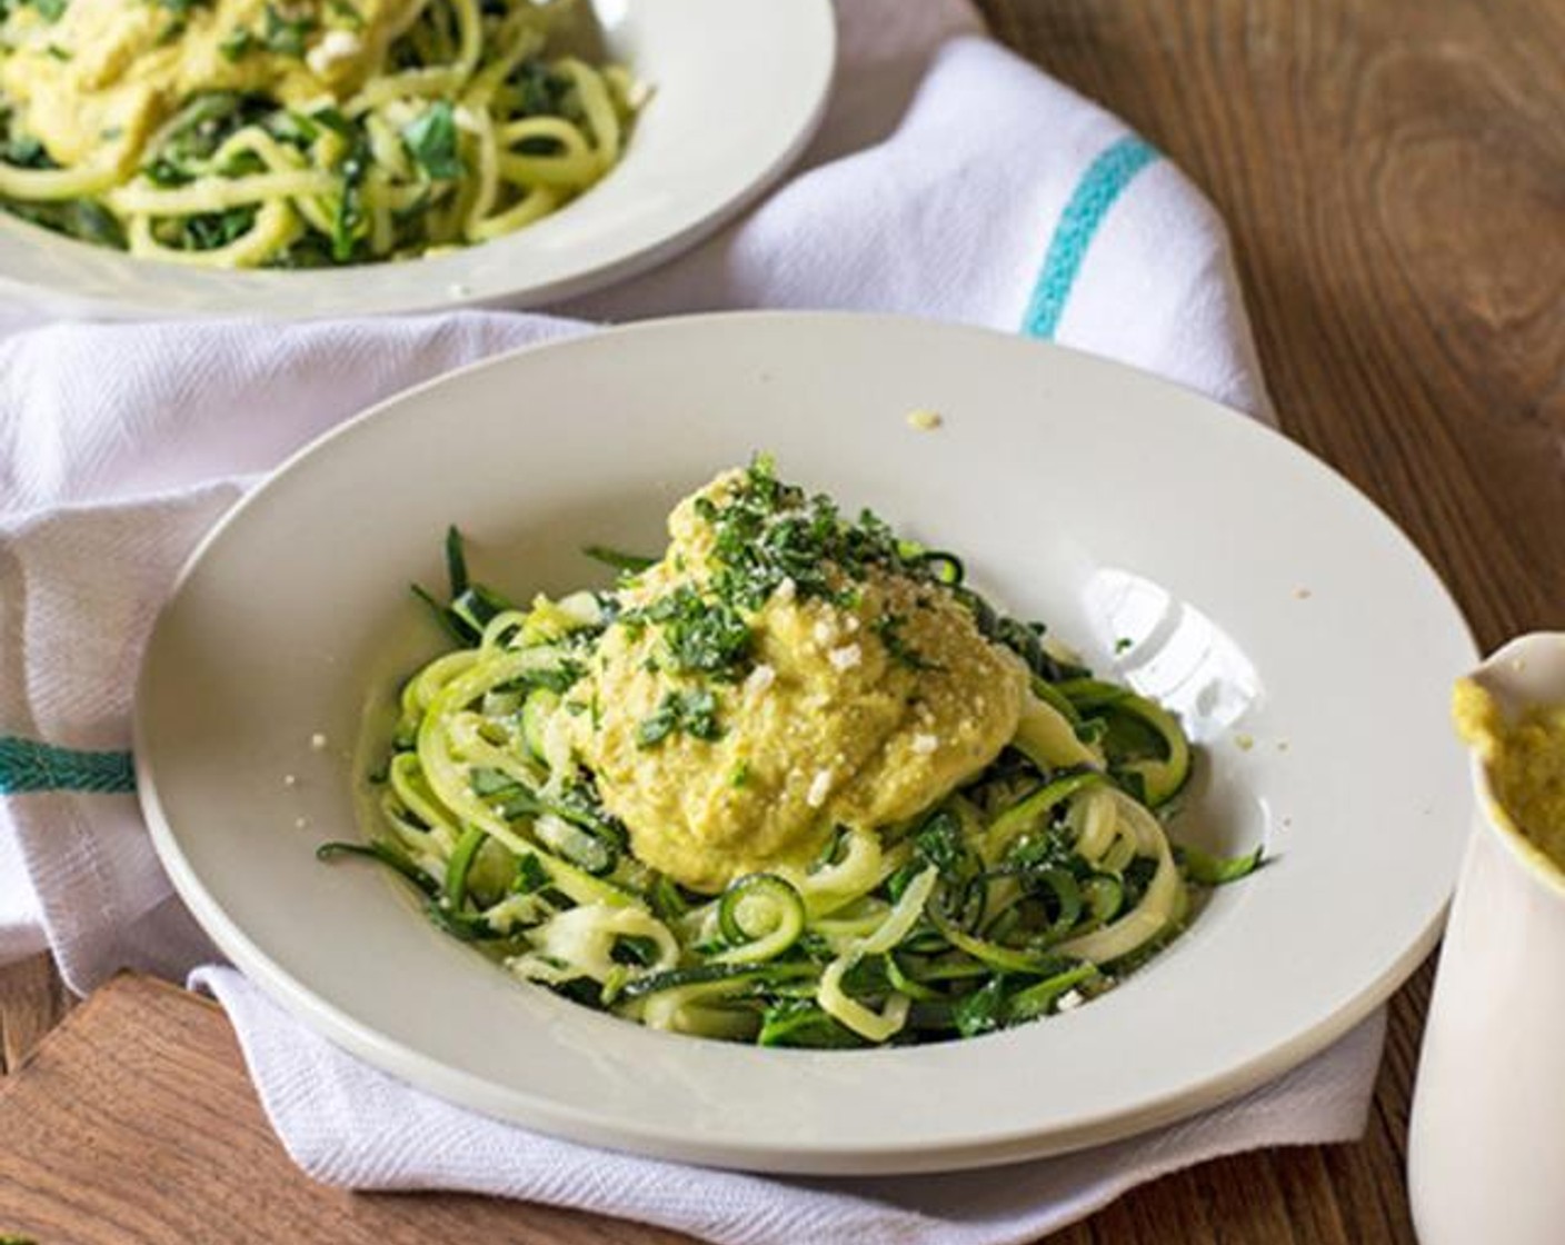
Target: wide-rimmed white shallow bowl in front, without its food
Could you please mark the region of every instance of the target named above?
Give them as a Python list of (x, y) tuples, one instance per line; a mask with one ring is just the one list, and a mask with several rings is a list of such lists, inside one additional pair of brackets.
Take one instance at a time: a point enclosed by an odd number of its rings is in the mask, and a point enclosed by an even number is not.
[[(914, 428), (914, 409), (939, 428)], [(588, 1012), (452, 943), (377, 871), (315, 860), (322, 839), (369, 833), (354, 741), (440, 650), (407, 583), (438, 581), (448, 523), (515, 598), (603, 584), (584, 545), (654, 550), (678, 496), (757, 448), (850, 512), (961, 553), (992, 600), (1175, 708), (1200, 747), (1175, 838), (1265, 844), (1271, 863), (1075, 1012), (809, 1052)], [(1396, 528), (1241, 415), (991, 332), (709, 316), (479, 365), (294, 457), (208, 537), (158, 620), (136, 758), (196, 916), (369, 1062), (664, 1157), (956, 1168), (1189, 1115), (1380, 1002), (1432, 944), (1455, 877), (1471, 802), (1444, 689), (1471, 661)]]

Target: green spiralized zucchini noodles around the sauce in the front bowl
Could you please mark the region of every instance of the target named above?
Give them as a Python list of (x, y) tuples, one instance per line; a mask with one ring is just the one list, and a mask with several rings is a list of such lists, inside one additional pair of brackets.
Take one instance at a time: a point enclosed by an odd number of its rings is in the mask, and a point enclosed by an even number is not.
[[(801, 514), (793, 495), (768, 496), (781, 498), (778, 521)], [(811, 521), (818, 536), (826, 520)], [(577, 1002), (657, 1029), (815, 1048), (972, 1037), (1069, 1010), (1167, 944), (1205, 886), (1255, 868), (1258, 852), (1216, 860), (1171, 844), (1163, 817), (1191, 767), (1172, 714), (1000, 615), (955, 558), (897, 542), (872, 517), (829, 521), (829, 539), (952, 594), (1030, 672), (1011, 745), (916, 817), (837, 827), (812, 861), (778, 861), (717, 894), (648, 868), (570, 742), (571, 716), (596, 713), (571, 689), (626, 598), (518, 609), (468, 581), (452, 531), (451, 598), (421, 595), (460, 647), (402, 691), (374, 775), (383, 833), (322, 855), (388, 864), (438, 926)], [(631, 576), (648, 565), (598, 553)]]

